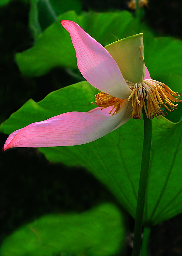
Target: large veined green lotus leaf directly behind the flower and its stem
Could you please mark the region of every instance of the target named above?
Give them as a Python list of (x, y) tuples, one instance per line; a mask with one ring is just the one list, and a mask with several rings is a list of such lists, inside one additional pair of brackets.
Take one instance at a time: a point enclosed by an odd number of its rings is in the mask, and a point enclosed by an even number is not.
[[(87, 82), (52, 92), (36, 103), (29, 100), (1, 125), (11, 132), (68, 111), (88, 111), (96, 89)], [(180, 104), (180, 103), (179, 103)], [(153, 119), (153, 137), (144, 223), (154, 225), (182, 212), (182, 122)], [(82, 165), (103, 182), (135, 217), (143, 144), (143, 121), (130, 119), (119, 129), (79, 146), (39, 148), (49, 161)], [(16, 149), (13, 149), (16, 150)], [(6, 152), (8, 154), (8, 152)]]

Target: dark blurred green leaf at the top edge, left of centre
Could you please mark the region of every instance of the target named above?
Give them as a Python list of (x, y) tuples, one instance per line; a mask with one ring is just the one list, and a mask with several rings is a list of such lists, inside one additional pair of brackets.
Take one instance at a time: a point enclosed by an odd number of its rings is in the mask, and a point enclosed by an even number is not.
[(58, 15), (69, 10), (80, 12), (80, 0), (31, 0), (29, 26), (34, 39), (37, 40), (40, 33), (58, 19)]

